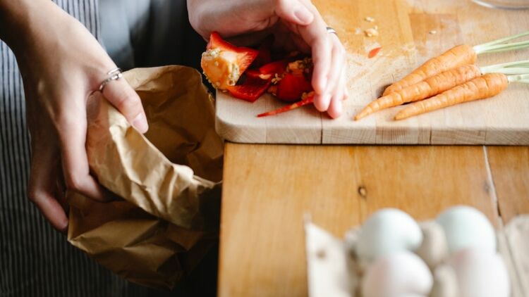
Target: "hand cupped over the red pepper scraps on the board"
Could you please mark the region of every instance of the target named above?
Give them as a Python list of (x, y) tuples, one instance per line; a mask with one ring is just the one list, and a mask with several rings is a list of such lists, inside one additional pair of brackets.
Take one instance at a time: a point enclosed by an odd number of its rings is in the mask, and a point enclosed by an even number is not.
[(341, 115), (342, 101), (348, 97), (345, 50), (336, 34), (327, 32), (310, 0), (224, 0), (221, 5), (216, 0), (188, 0), (188, 11), (191, 25), (205, 39), (217, 31), (248, 45), (272, 33), (280, 46), (312, 51), (314, 105), (332, 118)]

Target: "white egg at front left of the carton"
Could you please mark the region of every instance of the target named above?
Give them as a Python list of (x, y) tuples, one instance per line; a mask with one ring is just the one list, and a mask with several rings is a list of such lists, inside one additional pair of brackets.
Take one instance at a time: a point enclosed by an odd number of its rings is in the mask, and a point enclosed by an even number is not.
[(418, 255), (403, 251), (377, 258), (365, 272), (362, 296), (428, 296), (432, 273)]

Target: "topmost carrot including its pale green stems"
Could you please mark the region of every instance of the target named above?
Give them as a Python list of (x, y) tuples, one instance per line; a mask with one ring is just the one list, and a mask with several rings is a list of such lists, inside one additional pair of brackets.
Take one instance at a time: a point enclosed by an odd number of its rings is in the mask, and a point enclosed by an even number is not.
[(426, 61), (424, 64), (420, 65), (419, 68), (413, 70), (413, 72), (411, 72), (409, 75), (406, 75), (406, 77), (404, 77), (399, 82), (391, 84), (384, 90), (382, 96), (386, 96), (391, 92), (398, 91), (399, 89), (403, 89), (412, 84), (421, 82), (427, 77), (437, 75), (440, 72), (445, 72), (446, 70), (450, 70), (465, 64), (473, 64), (475, 63), (478, 55), (481, 53), (496, 53), (499, 51), (511, 51), (528, 47), (529, 41), (508, 42), (511, 39), (516, 39), (525, 35), (529, 35), (529, 31), (502, 39), (497, 39), (493, 42), (487, 42), (486, 44), (480, 44), (477, 46), (469, 46), (467, 44), (454, 46), (448, 51), (442, 53), (440, 56)]

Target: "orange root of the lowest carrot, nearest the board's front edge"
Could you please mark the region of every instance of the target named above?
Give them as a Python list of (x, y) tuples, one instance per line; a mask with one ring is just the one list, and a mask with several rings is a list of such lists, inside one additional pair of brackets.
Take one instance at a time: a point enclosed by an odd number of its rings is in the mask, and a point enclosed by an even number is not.
[(459, 84), (430, 99), (418, 101), (404, 108), (395, 115), (395, 120), (403, 120), (421, 113), (428, 113), (458, 103), (474, 101), (496, 96), (509, 85), (506, 75), (489, 73), (473, 80)]

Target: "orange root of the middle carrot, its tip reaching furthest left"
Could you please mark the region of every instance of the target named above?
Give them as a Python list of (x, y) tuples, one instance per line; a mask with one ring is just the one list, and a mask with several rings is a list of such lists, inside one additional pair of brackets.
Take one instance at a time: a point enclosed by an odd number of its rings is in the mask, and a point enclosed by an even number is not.
[(476, 65), (463, 65), (458, 68), (448, 70), (438, 75), (428, 77), (422, 82), (413, 84), (404, 89), (382, 96), (372, 101), (355, 116), (355, 120), (360, 120), (372, 113), (385, 108), (399, 106), (403, 103), (422, 100), (443, 91), (456, 87), (458, 84), (468, 82), (481, 75), (480, 68)]

